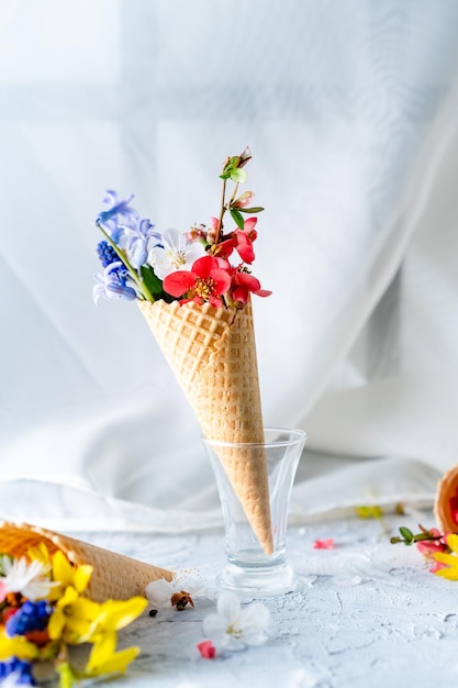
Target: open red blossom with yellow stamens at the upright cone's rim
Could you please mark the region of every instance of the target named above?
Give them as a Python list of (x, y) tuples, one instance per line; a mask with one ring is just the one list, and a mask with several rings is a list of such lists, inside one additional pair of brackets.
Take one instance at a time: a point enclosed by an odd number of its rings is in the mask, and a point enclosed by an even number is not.
[(215, 308), (220, 308), (223, 306), (221, 296), (226, 293), (231, 286), (230, 269), (231, 265), (224, 258), (203, 256), (192, 264), (191, 270), (177, 270), (167, 275), (163, 287), (172, 297), (187, 295), (182, 303), (209, 301)]

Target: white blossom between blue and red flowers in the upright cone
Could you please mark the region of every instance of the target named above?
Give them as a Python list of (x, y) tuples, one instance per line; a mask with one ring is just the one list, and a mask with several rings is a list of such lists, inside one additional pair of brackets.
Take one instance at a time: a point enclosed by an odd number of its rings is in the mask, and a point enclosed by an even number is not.
[(164, 247), (155, 246), (148, 254), (148, 263), (159, 279), (176, 270), (190, 270), (193, 262), (205, 255), (199, 241), (187, 242), (178, 230), (167, 230), (161, 240)]

